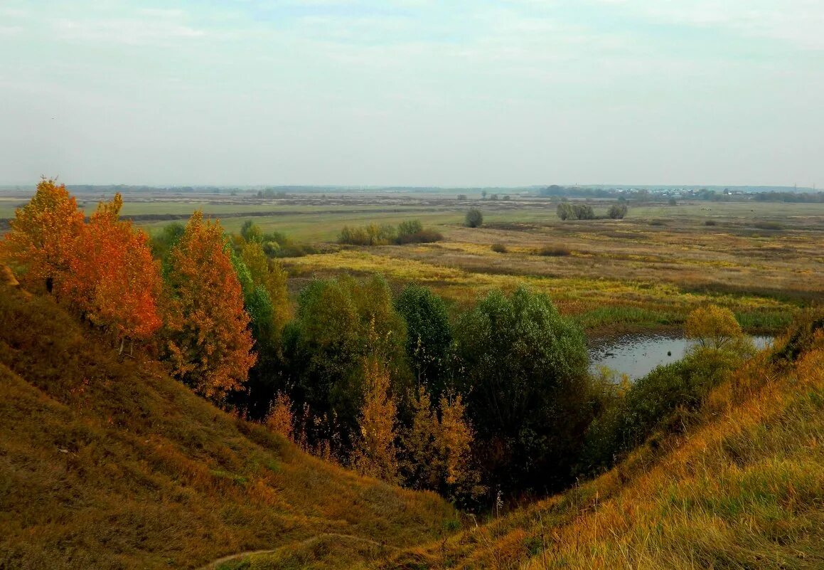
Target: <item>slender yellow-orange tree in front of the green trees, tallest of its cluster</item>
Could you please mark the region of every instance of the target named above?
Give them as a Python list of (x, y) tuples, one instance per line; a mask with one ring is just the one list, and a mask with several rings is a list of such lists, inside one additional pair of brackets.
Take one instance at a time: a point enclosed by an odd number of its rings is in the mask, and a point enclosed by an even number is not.
[(370, 358), (364, 364), (363, 372), (360, 437), (355, 445), (353, 465), (358, 473), (396, 483), (397, 408), (390, 393), (389, 371), (377, 358)]

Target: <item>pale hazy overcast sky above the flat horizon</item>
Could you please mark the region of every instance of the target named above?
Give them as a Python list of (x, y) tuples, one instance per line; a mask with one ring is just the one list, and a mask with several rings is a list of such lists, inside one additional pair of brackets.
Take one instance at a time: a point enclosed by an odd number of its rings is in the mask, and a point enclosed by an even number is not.
[(821, 0), (0, 0), (0, 183), (824, 186)]

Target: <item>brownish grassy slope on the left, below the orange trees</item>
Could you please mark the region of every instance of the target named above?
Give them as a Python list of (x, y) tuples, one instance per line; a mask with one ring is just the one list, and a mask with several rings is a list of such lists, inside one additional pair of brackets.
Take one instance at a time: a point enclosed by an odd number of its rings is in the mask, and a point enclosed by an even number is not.
[(299, 549), (350, 568), (435, 540), (451, 506), (238, 421), (0, 281), (0, 568), (199, 568)]

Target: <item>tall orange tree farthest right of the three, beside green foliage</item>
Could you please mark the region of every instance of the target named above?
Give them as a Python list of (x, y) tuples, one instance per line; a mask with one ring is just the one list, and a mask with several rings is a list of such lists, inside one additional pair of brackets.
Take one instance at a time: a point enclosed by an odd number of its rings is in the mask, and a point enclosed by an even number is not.
[(217, 401), (241, 389), (255, 365), (249, 315), (218, 222), (192, 214), (166, 265), (166, 343), (174, 374)]

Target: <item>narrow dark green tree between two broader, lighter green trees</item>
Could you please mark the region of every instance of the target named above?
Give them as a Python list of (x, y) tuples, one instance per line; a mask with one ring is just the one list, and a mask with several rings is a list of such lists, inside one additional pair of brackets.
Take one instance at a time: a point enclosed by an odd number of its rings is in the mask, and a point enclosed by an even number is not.
[(406, 321), (406, 357), (419, 385), (436, 400), (447, 389), (452, 327), (443, 299), (420, 285), (407, 285), (395, 300)]

